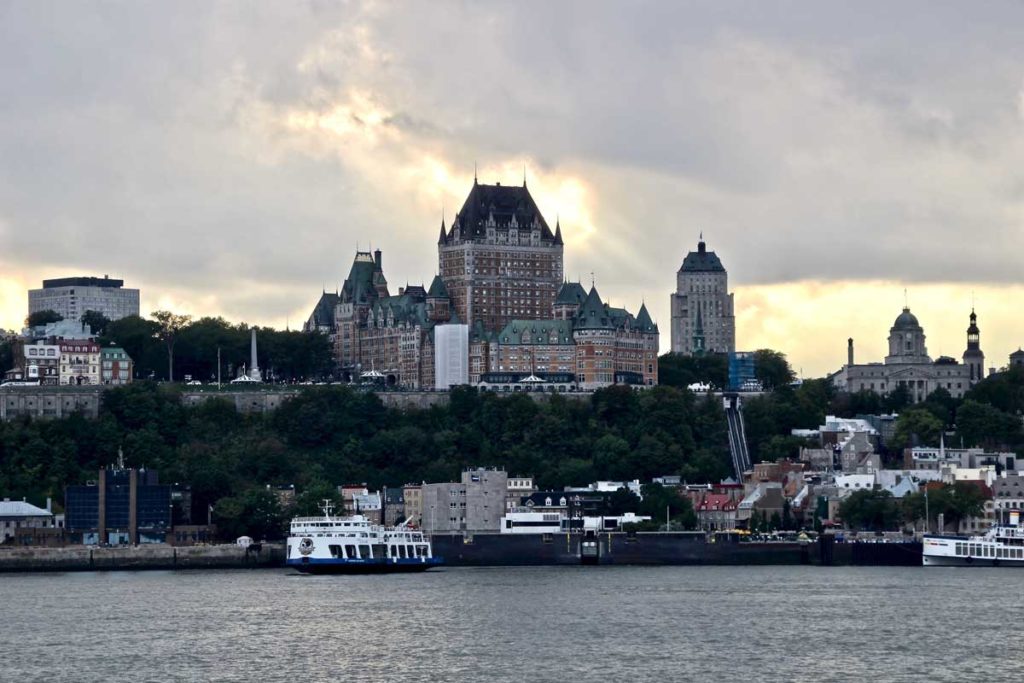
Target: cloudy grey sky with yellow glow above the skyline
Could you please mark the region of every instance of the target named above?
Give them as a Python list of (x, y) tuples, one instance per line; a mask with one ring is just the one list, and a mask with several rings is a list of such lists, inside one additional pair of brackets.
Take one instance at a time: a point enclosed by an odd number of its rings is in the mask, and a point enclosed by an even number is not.
[[(1016, 2), (0, 0), (0, 328), (44, 278), (299, 327), (359, 249), (436, 271), (442, 215), (527, 184), (565, 273), (667, 350), (702, 231), (739, 349), (881, 360), (908, 303), (1024, 344)], [(593, 275), (591, 275), (593, 273)]]

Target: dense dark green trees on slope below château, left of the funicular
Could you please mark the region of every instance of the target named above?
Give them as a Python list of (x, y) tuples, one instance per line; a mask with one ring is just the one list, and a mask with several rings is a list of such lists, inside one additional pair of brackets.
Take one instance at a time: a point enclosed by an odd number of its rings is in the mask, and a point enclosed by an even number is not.
[[(190, 484), (194, 518), (205, 519), (213, 505), (231, 533), (280, 521), (268, 484), (294, 483), (300, 505), (312, 508), (340, 483), (451, 481), (478, 465), (534, 475), (542, 487), (666, 474), (718, 481), (730, 473), (719, 401), (672, 387), (611, 387), (543, 402), (460, 388), (447, 405), (398, 411), (373, 393), (324, 386), (264, 416), (238, 414), (220, 399), (185, 407), (175, 387), (139, 382), (104, 392), (96, 420), (0, 424), (0, 490), (61, 501), (66, 485), (94, 479), (119, 449), (127, 465)], [(685, 513), (666, 505), (674, 517)]]

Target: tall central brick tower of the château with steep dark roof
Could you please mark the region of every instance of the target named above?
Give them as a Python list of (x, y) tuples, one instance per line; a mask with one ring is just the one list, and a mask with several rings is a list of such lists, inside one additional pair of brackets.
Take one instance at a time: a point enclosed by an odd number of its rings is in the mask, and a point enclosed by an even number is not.
[(554, 232), (526, 189), (473, 188), (437, 241), (441, 280), (459, 318), (498, 331), (509, 321), (553, 315), (562, 285), (562, 233)]

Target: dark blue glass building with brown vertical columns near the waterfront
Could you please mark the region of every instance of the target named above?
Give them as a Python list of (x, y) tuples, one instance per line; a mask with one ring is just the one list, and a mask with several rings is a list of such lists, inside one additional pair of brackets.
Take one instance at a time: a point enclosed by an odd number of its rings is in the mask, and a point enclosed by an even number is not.
[(171, 486), (155, 470), (99, 470), (99, 477), (65, 490), (73, 542), (84, 545), (164, 543), (171, 530)]

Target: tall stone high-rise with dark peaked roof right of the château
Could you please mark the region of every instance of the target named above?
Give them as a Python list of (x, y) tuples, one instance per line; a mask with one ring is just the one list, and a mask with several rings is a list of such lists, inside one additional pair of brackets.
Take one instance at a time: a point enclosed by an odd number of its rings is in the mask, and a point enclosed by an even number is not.
[(729, 273), (703, 237), (697, 250), (683, 259), (671, 297), (672, 351), (674, 353), (733, 353), (736, 317)]

